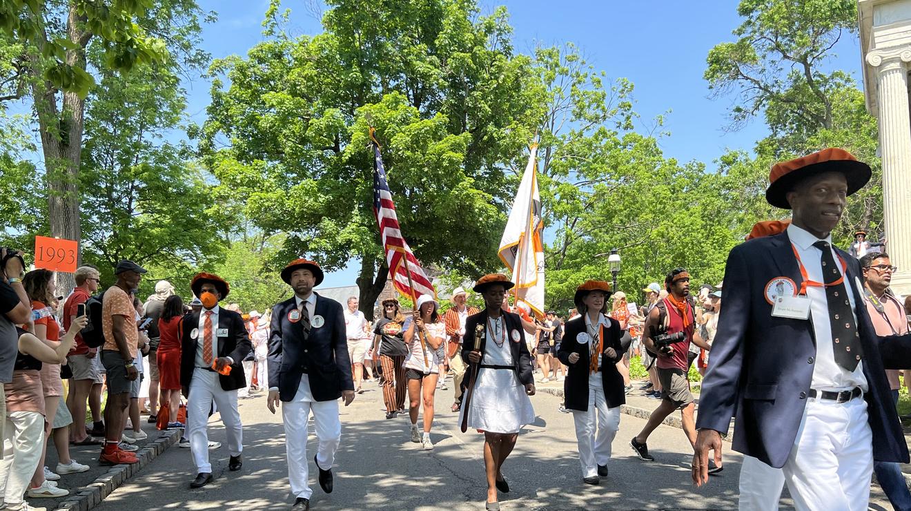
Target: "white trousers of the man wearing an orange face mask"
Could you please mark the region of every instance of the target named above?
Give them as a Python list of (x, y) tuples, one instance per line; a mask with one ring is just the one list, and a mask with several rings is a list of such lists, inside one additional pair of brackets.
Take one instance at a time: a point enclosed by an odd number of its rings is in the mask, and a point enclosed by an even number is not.
[(212, 465), (209, 463), (209, 410), (213, 401), (221, 414), (222, 424), (225, 424), (228, 452), (236, 456), (243, 451), (237, 391), (222, 390), (218, 373), (197, 367), (193, 370), (187, 398), (187, 438), (189, 452), (193, 455), (197, 472), (212, 471)]

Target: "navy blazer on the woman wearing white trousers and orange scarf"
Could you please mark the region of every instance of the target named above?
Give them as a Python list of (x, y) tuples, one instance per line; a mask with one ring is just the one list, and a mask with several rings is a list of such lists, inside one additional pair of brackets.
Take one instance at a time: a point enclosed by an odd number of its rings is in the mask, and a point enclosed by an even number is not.
[[(626, 349), (623, 348), (620, 342), (623, 336), (620, 330), (620, 323), (613, 318), (607, 317), (607, 319), (609, 327), (604, 329), (604, 348), (613, 348), (617, 352), (617, 357), (610, 358), (607, 354), (601, 353), (601, 383), (604, 385), (605, 401), (608, 402), (609, 408), (614, 408), (626, 403), (623, 375), (617, 370), (617, 363), (623, 358), (623, 353), (626, 352)], [(563, 382), (566, 407), (569, 410), (586, 412), (589, 410), (589, 362), (591, 353), (589, 352), (588, 342), (579, 344), (577, 341), (579, 333), (587, 332), (584, 316), (576, 316), (568, 320), (563, 332), (563, 342), (560, 342), (557, 358), (569, 368), (566, 381)], [(629, 345), (627, 345), (627, 348), (629, 348)], [(569, 363), (569, 355), (572, 353), (578, 353), (578, 361), (576, 363)]]

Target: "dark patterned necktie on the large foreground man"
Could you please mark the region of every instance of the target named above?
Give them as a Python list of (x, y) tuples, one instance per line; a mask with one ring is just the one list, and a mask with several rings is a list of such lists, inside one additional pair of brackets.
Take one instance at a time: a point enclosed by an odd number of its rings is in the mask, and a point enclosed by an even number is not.
[[(854, 312), (851, 311), (851, 301), (848, 300), (848, 291), (844, 286), (842, 272), (832, 257), (832, 249), (825, 241), (816, 241), (813, 244), (823, 251), (823, 280), (825, 282), (825, 299), (829, 304), (829, 322), (832, 324), (832, 349), (835, 362), (848, 371), (854, 371), (857, 363), (864, 356), (860, 345), (860, 333), (857, 332)], [(816, 342), (820, 342), (816, 339)]]

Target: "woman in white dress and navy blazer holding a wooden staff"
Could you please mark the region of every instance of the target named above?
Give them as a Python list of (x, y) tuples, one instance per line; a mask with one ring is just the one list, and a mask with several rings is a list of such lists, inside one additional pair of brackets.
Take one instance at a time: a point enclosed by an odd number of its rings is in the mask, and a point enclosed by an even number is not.
[[(484, 296), (485, 310), (468, 316), (462, 358), (470, 363), (470, 380), (460, 424), (484, 433), (484, 465), (487, 475), (486, 509), (499, 509), (497, 490), (507, 493), (502, 473), (518, 432), (535, 420), (529, 395), (535, 394), (531, 353), (525, 342), (522, 319), (503, 310), (507, 290), (513, 287), (506, 275), (485, 275), (475, 291)], [(476, 335), (480, 336), (475, 350)]]

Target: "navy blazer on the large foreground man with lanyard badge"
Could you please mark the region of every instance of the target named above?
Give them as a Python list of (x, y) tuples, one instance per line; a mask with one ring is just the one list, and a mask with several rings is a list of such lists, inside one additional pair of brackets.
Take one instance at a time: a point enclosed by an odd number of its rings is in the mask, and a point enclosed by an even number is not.
[[(878, 337), (857, 279), (860, 264), (847, 263), (845, 278), (855, 294), (857, 330), (869, 389), (867, 417), (876, 461), (908, 463), (908, 450), (885, 369), (911, 367), (911, 335)], [(733, 448), (781, 467), (791, 453), (813, 379), (813, 322), (772, 316), (764, 298), (768, 281), (802, 281), (787, 232), (750, 240), (731, 250), (724, 271), (724, 306), (702, 382), (697, 428), (728, 431), (736, 413)], [(824, 342), (832, 342), (824, 340)]]

